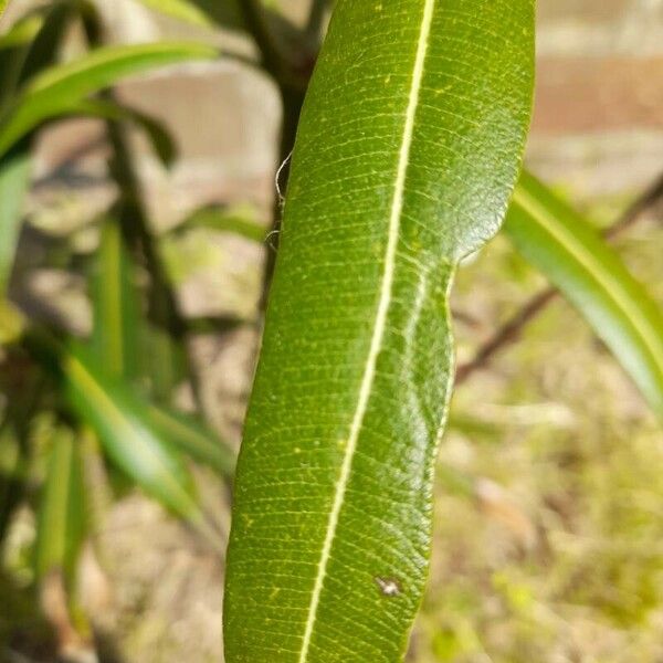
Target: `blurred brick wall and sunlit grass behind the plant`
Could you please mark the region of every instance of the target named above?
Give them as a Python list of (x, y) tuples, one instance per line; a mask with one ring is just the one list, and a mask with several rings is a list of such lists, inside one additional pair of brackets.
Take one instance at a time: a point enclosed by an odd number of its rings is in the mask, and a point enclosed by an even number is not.
[[(140, 130), (128, 133), (159, 260), (182, 316), (196, 323), (182, 340), (196, 390), (176, 370), (169, 400), (181, 411), (197, 401), (236, 450), (274, 250), (273, 238), (255, 241), (235, 222), (259, 238), (271, 228), (281, 99), (251, 64), (256, 48), (231, 3), (209, 2), (219, 24), (208, 27), (145, 4), (99, 2), (107, 39), (199, 40), (232, 53), (131, 78), (116, 95), (161, 120), (178, 148), (166, 168)], [(12, 0), (2, 31), (32, 6)], [(306, 0), (269, 7), (295, 24), (308, 15)], [(81, 39), (73, 29), (65, 55)], [(663, 1), (538, 0), (537, 67), (527, 164), (606, 228), (663, 172)], [(33, 155), (11, 296), (85, 336), (94, 316), (81, 265), (117, 196), (105, 123), (60, 122), (40, 131)], [(213, 209), (217, 222), (188, 222), (201, 209)], [(662, 221), (651, 196), (614, 245), (663, 304)], [(464, 265), (453, 296), (460, 364), (545, 286), (502, 238)], [(22, 365), (11, 366), (1, 378), (6, 410), (36, 389)], [(57, 420), (42, 408), (27, 423), (34, 485)], [(78, 608), (63, 617), (57, 589), (35, 581), (39, 506), (28, 491), (0, 549), (0, 661), (54, 661), (60, 652), (70, 661), (219, 663), (228, 483), (191, 470), (218, 536), (210, 543), (116, 477), (94, 435), (81, 434), (96, 515), (76, 570)], [(11, 459), (0, 456), (6, 467)], [(555, 299), (457, 387), (440, 455), (431, 581), (409, 661), (662, 663), (662, 475), (653, 414), (586, 323)]]

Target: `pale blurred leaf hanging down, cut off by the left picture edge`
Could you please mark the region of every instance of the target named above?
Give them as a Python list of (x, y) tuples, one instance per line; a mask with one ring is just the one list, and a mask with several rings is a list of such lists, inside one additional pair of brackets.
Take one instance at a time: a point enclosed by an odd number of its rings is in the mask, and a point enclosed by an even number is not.
[(0, 159), (0, 298), (7, 295), (13, 267), (30, 171), (30, 155), (25, 150)]

